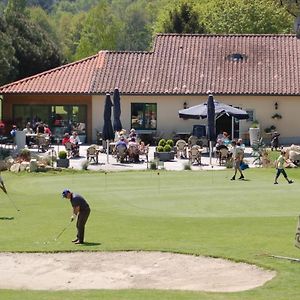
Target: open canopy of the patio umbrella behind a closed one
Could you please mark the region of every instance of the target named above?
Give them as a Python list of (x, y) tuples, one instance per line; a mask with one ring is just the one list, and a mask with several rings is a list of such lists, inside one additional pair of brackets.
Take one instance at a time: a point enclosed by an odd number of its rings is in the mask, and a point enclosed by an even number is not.
[[(248, 119), (249, 115), (245, 110), (230, 106), (214, 100), (216, 118), (223, 114), (239, 120)], [(207, 118), (207, 102), (179, 110), (179, 118), (183, 119), (204, 119)]]

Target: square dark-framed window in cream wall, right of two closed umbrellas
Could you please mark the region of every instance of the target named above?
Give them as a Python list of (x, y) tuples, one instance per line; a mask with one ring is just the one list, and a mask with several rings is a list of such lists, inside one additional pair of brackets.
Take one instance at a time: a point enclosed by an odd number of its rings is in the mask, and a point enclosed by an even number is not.
[(156, 103), (131, 103), (131, 127), (140, 130), (156, 130)]

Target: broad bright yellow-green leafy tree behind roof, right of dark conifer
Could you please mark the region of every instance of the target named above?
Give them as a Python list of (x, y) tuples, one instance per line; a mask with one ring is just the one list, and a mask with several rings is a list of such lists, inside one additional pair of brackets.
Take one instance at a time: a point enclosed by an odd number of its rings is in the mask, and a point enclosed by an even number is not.
[(202, 7), (209, 33), (289, 33), (292, 17), (271, 0), (215, 0)]

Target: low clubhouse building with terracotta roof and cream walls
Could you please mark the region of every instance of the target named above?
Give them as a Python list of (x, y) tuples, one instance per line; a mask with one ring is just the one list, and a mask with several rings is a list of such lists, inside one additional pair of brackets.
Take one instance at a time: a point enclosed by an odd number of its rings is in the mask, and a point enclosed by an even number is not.
[[(96, 55), (0, 87), (2, 116), (23, 128), (42, 120), (59, 136), (75, 128), (87, 142), (103, 127), (106, 93), (121, 93), (121, 122), (140, 134), (172, 137), (206, 120), (178, 117), (180, 109), (216, 100), (242, 108), (235, 137), (254, 120), (281, 142), (300, 144), (300, 39), (295, 35), (159, 34), (149, 52)], [(231, 132), (223, 115), (217, 131)]]

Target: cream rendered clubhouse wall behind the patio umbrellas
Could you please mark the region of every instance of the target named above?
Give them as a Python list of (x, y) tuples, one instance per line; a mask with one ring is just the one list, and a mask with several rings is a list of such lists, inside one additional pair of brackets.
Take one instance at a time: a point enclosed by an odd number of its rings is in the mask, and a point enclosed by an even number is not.
[[(215, 96), (215, 99), (228, 105), (241, 107), (254, 111), (254, 119), (260, 123), (263, 130), (275, 125), (285, 143), (300, 143), (300, 97), (276, 96)], [(102, 131), (103, 110), (105, 95), (93, 96), (92, 100), (92, 126), (93, 140), (96, 139), (96, 129)], [(157, 131), (168, 137), (176, 131), (192, 131), (195, 124), (206, 124), (204, 120), (183, 120), (178, 117), (178, 111), (183, 103), (188, 106), (197, 105), (207, 101), (207, 96), (128, 96), (121, 95), (121, 122), (125, 129), (131, 126), (131, 103), (157, 103)], [(275, 102), (278, 109), (275, 110)], [(278, 113), (282, 119), (274, 120), (272, 115)], [(113, 120), (113, 114), (112, 114)], [(252, 121), (240, 121), (240, 136), (248, 132)]]

